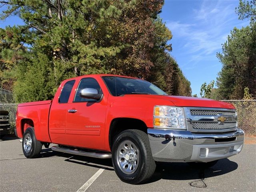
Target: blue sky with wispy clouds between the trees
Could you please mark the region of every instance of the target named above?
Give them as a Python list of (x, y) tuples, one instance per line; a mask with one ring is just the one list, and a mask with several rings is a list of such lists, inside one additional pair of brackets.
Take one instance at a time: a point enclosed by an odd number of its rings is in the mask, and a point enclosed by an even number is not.
[[(201, 85), (216, 81), (222, 64), (216, 58), (230, 30), (249, 21), (238, 20), (235, 8), (239, 0), (165, 0), (160, 17), (172, 31), (171, 55), (191, 82), (192, 94), (199, 96)], [(2, 12), (3, 8), (0, 8)], [(0, 27), (22, 24), (9, 17)]]

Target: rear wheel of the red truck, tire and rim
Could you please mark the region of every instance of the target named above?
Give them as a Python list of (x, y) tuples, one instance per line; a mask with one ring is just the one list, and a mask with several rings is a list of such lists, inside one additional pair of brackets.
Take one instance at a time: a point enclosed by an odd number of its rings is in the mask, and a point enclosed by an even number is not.
[(36, 158), (41, 150), (42, 143), (36, 140), (34, 128), (27, 128), (23, 134), (22, 149), (26, 158)]

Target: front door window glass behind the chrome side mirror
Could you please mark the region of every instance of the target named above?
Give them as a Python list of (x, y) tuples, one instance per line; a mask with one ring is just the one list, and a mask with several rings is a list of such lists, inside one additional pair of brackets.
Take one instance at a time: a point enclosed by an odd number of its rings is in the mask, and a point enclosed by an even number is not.
[(80, 91), (85, 88), (93, 88), (98, 91), (98, 94), (102, 94), (102, 90), (100, 88), (100, 85), (94, 78), (83, 78), (80, 80), (80, 83), (78, 85), (78, 88), (76, 90), (76, 95), (74, 102), (93, 102), (97, 101), (95, 99), (87, 99), (80, 97)]

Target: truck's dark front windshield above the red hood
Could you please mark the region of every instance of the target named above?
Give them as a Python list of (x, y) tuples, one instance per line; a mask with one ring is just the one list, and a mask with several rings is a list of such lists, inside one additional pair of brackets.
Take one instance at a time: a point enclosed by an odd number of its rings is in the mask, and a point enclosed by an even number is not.
[(103, 76), (102, 78), (113, 96), (125, 94), (167, 95), (157, 86), (144, 80), (116, 76)]

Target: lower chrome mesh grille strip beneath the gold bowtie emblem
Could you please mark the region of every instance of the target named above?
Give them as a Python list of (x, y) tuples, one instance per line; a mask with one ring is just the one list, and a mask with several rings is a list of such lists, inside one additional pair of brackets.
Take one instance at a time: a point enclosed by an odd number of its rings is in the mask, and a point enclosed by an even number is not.
[(236, 122), (226, 122), (223, 124), (218, 123), (206, 123), (206, 122), (192, 122), (193, 129), (229, 129), (235, 128)]

